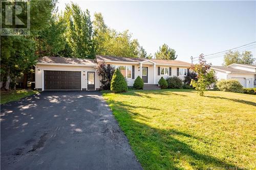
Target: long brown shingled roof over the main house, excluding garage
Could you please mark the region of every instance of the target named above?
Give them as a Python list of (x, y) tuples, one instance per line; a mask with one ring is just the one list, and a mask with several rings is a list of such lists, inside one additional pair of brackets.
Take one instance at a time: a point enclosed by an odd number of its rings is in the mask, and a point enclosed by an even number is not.
[(152, 61), (153, 63), (156, 63), (158, 65), (184, 65), (184, 66), (190, 66), (190, 63), (183, 62), (183, 61), (177, 61), (177, 60), (158, 60), (158, 59), (144, 59), (144, 58), (132, 58), (132, 57), (114, 57), (114, 56), (96, 56), (97, 61), (106, 61), (106, 62), (142, 62), (143, 61)]

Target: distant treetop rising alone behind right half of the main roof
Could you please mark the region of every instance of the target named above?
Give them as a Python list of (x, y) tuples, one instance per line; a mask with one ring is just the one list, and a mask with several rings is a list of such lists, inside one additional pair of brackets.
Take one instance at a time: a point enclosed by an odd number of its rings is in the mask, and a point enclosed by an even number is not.
[(177, 56), (175, 56), (176, 51), (170, 48), (167, 44), (163, 44), (159, 47), (159, 51), (155, 53), (156, 59), (163, 60), (175, 60)]

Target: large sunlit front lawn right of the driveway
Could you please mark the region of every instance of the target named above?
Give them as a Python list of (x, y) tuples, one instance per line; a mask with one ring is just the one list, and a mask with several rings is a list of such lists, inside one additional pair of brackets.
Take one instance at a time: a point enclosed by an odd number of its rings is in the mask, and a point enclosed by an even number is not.
[(255, 95), (170, 89), (103, 96), (144, 169), (256, 168)]

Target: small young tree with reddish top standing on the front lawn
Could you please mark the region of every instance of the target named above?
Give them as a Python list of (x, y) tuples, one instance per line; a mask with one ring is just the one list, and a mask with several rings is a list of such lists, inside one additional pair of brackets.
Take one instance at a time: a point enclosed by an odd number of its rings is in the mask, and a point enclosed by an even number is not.
[(195, 87), (200, 96), (203, 96), (206, 88), (217, 81), (215, 71), (210, 69), (210, 64), (206, 64), (203, 54), (199, 56), (199, 64), (192, 65), (190, 68), (198, 75), (197, 81), (192, 79), (190, 85)]

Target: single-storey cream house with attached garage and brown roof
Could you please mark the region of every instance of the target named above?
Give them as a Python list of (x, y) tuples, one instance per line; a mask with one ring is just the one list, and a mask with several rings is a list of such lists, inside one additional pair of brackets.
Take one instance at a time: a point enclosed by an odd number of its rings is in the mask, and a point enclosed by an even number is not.
[(187, 75), (190, 64), (177, 60), (96, 56), (93, 59), (42, 57), (35, 65), (35, 88), (40, 90), (99, 90), (100, 77), (95, 66), (105, 62), (120, 69), (128, 86), (140, 76), (144, 84), (157, 85), (161, 77)]

